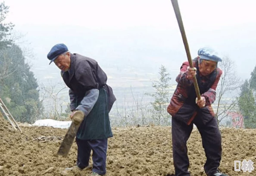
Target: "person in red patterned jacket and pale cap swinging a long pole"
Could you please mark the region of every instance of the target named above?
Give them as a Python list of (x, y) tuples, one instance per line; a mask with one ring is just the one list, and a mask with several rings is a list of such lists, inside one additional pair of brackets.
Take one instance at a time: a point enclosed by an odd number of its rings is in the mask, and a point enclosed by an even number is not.
[[(207, 176), (227, 176), (219, 172), (222, 157), (222, 140), (218, 123), (214, 118), (211, 104), (215, 101), (216, 88), (222, 75), (217, 65), (222, 59), (213, 49), (198, 50), (193, 60), (194, 68), (188, 62), (181, 66), (176, 78), (178, 83), (167, 111), (172, 115), (172, 150), (175, 176), (190, 176), (188, 171), (187, 140), (193, 125), (197, 126), (202, 137), (206, 154), (204, 170)], [(193, 85), (196, 76), (201, 99), (197, 100)]]

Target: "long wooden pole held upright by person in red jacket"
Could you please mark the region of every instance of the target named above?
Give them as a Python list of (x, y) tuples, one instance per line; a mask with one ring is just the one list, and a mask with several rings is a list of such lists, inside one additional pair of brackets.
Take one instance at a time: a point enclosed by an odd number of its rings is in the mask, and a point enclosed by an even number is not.
[[(189, 47), (188, 47), (188, 43), (187, 43), (186, 33), (185, 33), (185, 30), (184, 30), (184, 26), (183, 26), (183, 22), (182, 22), (182, 18), (181, 18), (181, 12), (180, 12), (180, 8), (179, 8), (179, 5), (178, 5), (178, 0), (171, 0), (171, 1), (172, 1), (172, 6), (173, 6), (173, 9), (174, 9), (177, 21), (178, 21), (179, 28), (180, 28), (180, 31), (181, 31), (181, 36), (182, 36), (184, 47), (185, 47), (185, 50), (186, 50), (186, 53), (187, 53), (187, 60), (189, 62), (189, 67), (194, 68), (193, 62), (192, 62), (192, 59), (191, 59), (191, 55), (190, 55), (190, 51), (189, 51)], [(199, 91), (196, 76), (194, 76), (193, 82), (194, 82), (194, 87), (195, 87), (196, 94), (197, 94), (197, 99), (200, 100), (201, 95), (200, 95), (200, 91)]]

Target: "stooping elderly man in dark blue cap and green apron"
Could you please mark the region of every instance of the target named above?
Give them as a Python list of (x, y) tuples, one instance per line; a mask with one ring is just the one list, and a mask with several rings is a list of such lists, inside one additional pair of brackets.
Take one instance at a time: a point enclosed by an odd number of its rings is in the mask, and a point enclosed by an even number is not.
[(112, 137), (109, 111), (116, 97), (112, 88), (106, 84), (106, 73), (97, 61), (69, 52), (66, 45), (53, 46), (47, 55), (50, 64), (54, 62), (61, 70), (61, 76), (69, 87), (70, 109), (84, 112), (77, 135), (77, 164), (66, 170), (82, 170), (89, 165), (93, 151), (92, 176), (106, 174), (107, 139)]

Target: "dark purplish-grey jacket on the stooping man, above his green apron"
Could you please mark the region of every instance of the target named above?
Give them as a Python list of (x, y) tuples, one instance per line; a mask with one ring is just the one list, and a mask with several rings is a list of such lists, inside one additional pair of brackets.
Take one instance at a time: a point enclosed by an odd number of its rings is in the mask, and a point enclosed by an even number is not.
[(86, 91), (94, 88), (104, 88), (108, 95), (108, 108), (110, 111), (113, 103), (116, 101), (116, 97), (113, 94), (112, 88), (106, 84), (106, 73), (94, 59), (78, 54), (71, 54), (70, 59), (69, 71), (61, 71), (64, 82), (70, 88), (70, 109), (75, 110), (76, 102), (81, 102)]

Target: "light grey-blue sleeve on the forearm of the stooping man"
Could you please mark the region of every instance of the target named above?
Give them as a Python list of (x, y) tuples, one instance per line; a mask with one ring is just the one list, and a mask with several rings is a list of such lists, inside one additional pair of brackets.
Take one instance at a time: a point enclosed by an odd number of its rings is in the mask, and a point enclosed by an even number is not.
[(86, 117), (93, 109), (95, 103), (97, 102), (99, 97), (98, 89), (91, 89), (86, 91), (84, 98), (81, 100), (80, 105), (76, 108), (76, 110), (81, 110), (84, 112), (84, 116)]

